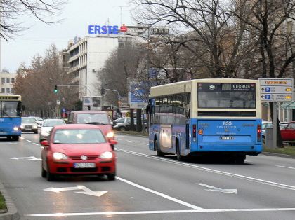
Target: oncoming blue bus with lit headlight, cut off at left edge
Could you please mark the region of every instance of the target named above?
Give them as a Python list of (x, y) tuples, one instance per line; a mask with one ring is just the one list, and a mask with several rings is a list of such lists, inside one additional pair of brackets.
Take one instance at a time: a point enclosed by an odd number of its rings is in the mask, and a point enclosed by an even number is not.
[(18, 141), (22, 135), (20, 95), (0, 94), (0, 137)]

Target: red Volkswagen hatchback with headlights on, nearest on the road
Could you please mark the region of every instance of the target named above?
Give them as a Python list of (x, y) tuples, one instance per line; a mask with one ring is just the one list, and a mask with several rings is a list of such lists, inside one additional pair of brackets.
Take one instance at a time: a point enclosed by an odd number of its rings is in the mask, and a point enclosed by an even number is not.
[(55, 125), (47, 140), (41, 142), (41, 176), (52, 181), (58, 175), (94, 174), (116, 177), (116, 155), (96, 125)]

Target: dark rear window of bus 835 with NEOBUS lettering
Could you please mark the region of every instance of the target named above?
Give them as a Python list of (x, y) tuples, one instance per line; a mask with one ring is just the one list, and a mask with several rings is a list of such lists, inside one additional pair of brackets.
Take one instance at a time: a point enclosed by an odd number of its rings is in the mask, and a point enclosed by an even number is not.
[(254, 83), (198, 83), (198, 107), (202, 109), (255, 109)]

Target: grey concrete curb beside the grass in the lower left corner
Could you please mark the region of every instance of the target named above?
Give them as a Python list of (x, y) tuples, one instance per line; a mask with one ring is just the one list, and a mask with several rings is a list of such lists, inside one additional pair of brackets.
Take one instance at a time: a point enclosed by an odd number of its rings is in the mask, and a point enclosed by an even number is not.
[(7, 212), (0, 214), (0, 220), (8, 220), (8, 219), (20, 219), (20, 214), (18, 214), (18, 210), (16, 209), (13, 198), (11, 198), (3, 184), (0, 182), (0, 191), (3, 197), (5, 198), (6, 207), (8, 209)]

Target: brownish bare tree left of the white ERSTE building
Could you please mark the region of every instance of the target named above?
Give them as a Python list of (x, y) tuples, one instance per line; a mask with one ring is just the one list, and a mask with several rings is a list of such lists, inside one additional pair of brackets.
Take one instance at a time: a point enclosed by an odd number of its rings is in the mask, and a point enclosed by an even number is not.
[(17, 73), (15, 92), (22, 95), (27, 111), (40, 116), (56, 116), (57, 100), (66, 109), (72, 109), (74, 102), (77, 102), (78, 96), (73, 95), (77, 91), (72, 87), (60, 87), (57, 94), (53, 92), (54, 85), (67, 84), (70, 80), (63, 70), (60, 55), (54, 45), (46, 50), (44, 58), (36, 55), (32, 58), (29, 69), (22, 65)]

